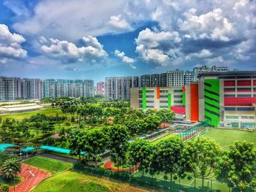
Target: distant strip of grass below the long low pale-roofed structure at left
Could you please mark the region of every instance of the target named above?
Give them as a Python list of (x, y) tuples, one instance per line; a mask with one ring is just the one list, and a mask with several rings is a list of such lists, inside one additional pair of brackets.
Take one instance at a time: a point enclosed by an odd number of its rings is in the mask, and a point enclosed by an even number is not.
[(56, 113), (58, 113), (59, 116), (64, 115), (61, 112), (60, 108), (47, 108), (44, 110), (36, 110), (32, 112), (19, 112), (19, 113), (12, 113), (12, 114), (7, 114), (7, 115), (0, 115), (0, 117), (4, 120), (6, 118), (14, 118), (15, 120), (23, 120), (23, 118), (30, 118), (32, 115), (36, 115), (37, 113), (44, 114), (47, 116), (55, 116)]

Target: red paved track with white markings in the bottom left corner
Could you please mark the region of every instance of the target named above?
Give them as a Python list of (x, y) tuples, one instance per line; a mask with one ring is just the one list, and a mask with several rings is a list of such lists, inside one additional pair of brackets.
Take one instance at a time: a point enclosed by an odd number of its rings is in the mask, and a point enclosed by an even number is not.
[[(46, 177), (50, 177), (50, 174), (42, 169), (37, 169), (34, 166), (22, 164), (21, 172), (18, 176), (22, 177), (23, 181), (18, 186), (15, 186), (15, 192), (27, 192)], [(9, 191), (13, 191), (13, 187), (10, 188)]]

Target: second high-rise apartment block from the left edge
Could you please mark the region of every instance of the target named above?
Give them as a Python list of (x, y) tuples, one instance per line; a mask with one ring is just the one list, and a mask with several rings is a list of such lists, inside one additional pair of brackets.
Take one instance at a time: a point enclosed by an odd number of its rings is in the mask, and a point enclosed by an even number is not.
[(23, 78), (21, 99), (42, 99), (42, 80)]

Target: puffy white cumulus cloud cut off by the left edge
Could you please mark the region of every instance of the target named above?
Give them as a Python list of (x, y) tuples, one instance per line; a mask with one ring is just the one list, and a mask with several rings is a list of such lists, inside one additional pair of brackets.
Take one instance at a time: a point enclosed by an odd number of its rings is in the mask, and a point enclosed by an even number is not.
[(22, 35), (12, 34), (8, 26), (0, 24), (0, 62), (6, 63), (9, 59), (26, 58), (27, 51), (21, 47), (25, 41)]

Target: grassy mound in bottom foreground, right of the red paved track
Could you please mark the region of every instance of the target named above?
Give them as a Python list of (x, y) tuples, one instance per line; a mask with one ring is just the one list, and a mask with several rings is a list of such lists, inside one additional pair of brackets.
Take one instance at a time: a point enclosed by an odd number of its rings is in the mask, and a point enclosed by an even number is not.
[(68, 192), (68, 191), (86, 191), (86, 192), (105, 192), (105, 191), (143, 191), (129, 186), (126, 183), (114, 183), (110, 180), (93, 177), (87, 174), (75, 171), (67, 171), (56, 176), (50, 177), (37, 185), (34, 192)]

